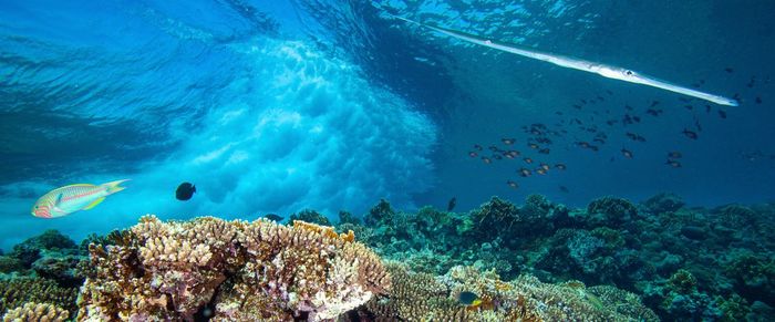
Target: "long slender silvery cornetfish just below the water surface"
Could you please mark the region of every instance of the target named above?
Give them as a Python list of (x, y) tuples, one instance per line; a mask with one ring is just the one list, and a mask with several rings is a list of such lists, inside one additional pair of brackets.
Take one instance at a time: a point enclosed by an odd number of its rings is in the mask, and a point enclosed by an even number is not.
[(661, 80), (658, 80), (658, 79), (654, 79), (654, 77), (651, 77), (648, 75), (640, 74), (640, 73), (634, 72), (632, 70), (606, 65), (606, 64), (601, 64), (601, 63), (589, 62), (589, 61), (569, 58), (569, 56), (549, 54), (546, 52), (520, 49), (520, 48), (517, 48), (515, 45), (506, 45), (506, 44), (497, 43), (497, 42), (494, 42), (492, 40), (483, 39), (483, 38), (479, 38), (476, 35), (472, 35), (472, 34), (466, 34), (466, 33), (463, 33), (461, 31), (455, 31), (455, 30), (445, 29), (445, 28), (441, 28), (441, 27), (430, 25), (430, 24), (416, 22), (414, 20), (410, 20), (406, 18), (393, 15), (390, 13), (388, 13), (388, 14), (391, 17), (394, 17), (396, 19), (401, 19), (403, 21), (406, 21), (409, 23), (414, 23), (414, 24), (434, 30), (436, 32), (440, 32), (440, 33), (443, 33), (443, 34), (469, 42), (469, 43), (488, 46), (492, 49), (509, 52), (513, 54), (526, 56), (526, 58), (534, 59), (534, 60), (544, 61), (544, 62), (551, 63), (551, 64), (555, 64), (555, 65), (558, 65), (561, 67), (579, 70), (579, 71), (583, 71), (583, 72), (599, 74), (599, 75), (601, 75), (603, 77), (608, 77), (608, 79), (613, 79), (613, 80), (624, 81), (624, 82), (629, 82), (629, 83), (642, 84), (642, 85), (647, 85), (647, 86), (662, 89), (662, 90), (670, 91), (673, 93), (679, 93), (679, 94), (705, 100), (709, 102), (713, 102), (713, 103), (720, 104), (720, 105), (737, 106), (736, 100), (727, 98), (724, 96), (714, 95), (714, 94), (710, 94), (710, 93), (700, 92), (700, 91), (692, 90), (692, 89), (684, 87), (684, 86), (680, 86), (680, 85), (675, 85), (675, 84), (672, 84), (672, 83), (669, 83), (665, 81), (661, 81)]

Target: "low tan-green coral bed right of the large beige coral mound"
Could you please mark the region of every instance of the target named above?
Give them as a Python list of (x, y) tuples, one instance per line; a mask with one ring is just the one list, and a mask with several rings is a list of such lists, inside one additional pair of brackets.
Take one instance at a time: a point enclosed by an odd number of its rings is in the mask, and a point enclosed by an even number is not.
[[(363, 309), (376, 321), (658, 321), (637, 295), (610, 287), (554, 285), (526, 276), (504, 282), (493, 271), (459, 266), (436, 278), (395, 262), (388, 269), (390, 295), (372, 299)], [(463, 291), (478, 294), (482, 302), (461, 304), (456, 298)]]

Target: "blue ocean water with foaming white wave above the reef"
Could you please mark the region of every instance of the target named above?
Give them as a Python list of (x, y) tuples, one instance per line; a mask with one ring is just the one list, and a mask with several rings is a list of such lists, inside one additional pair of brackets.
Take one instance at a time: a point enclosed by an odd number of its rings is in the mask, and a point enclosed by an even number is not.
[[(660, 191), (712, 207), (775, 196), (769, 1), (0, 1), (0, 9), (6, 249), (52, 228), (76, 240), (104, 233), (144, 214), (334, 216), (363, 214), (380, 198), (415, 209), (452, 197), (469, 209), (494, 195), (529, 194), (583, 206)], [(741, 104), (706, 107), (386, 13), (628, 66)], [(647, 114), (652, 105), (663, 113)], [(624, 124), (628, 115), (641, 121)], [(526, 146), (531, 124), (560, 133), (550, 153)], [(599, 150), (578, 146), (597, 133), (607, 135)], [(512, 137), (523, 156), (482, 162)], [(472, 158), (474, 145), (484, 150)], [(680, 168), (665, 165), (673, 150)], [(523, 178), (525, 156), (567, 170)], [(53, 188), (124, 178), (127, 189), (93, 210), (30, 215)], [(174, 198), (182, 181), (196, 184), (189, 201)]]

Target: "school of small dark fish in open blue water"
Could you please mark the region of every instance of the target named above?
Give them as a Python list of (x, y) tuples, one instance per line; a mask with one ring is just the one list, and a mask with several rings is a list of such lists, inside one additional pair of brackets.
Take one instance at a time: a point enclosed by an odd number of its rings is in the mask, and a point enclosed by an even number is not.
[[(724, 72), (735, 73), (732, 67), (724, 69)], [(692, 86), (699, 89), (704, 83), (704, 81), (699, 81)], [(751, 76), (745, 84), (748, 91), (745, 94), (736, 93), (734, 100), (741, 104), (761, 105), (764, 101), (754, 87), (757, 84), (769, 83), (768, 76)], [(558, 118), (555, 124), (533, 123), (524, 125), (519, 131), (521, 135), (509, 133), (500, 137), (499, 144), (474, 144), (473, 148), (468, 150), (468, 156), (480, 159), (485, 165), (492, 165), (497, 160), (516, 160), (516, 172), (509, 175), (510, 178), (507, 178), (505, 184), (517, 189), (520, 187), (519, 178), (535, 175), (545, 176), (556, 169), (565, 170), (567, 168), (562, 160), (552, 158), (552, 150), (576, 147), (591, 153), (602, 152), (607, 154), (602, 146), (613, 142), (616, 145), (621, 144), (621, 147), (618, 147), (618, 154), (606, 156), (609, 162), (634, 159), (639, 156), (639, 147), (649, 142), (645, 135), (636, 129), (640, 128), (641, 124), (652, 124), (659, 122), (661, 117), (679, 117), (679, 113), (690, 113), (691, 123), (675, 132), (668, 132), (679, 136), (678, 144), (683, 143), (680, 141), (681, 137), (685, 142), (700, 141), (704, 122), (714, 117), (723, 121), (731, 116), (724, 107), (691, 97), (678, 97), (676, 102), (671, 103), (650, 101), (622, 104), (623, 100), (624, 97), (617, 97), (614, 92), (610, 90), (590, 97), (578, 98), (570, 104), (571, 108), (560, 108), (555, 112), (555, 116)], [(660, 125), (657, 128), (662, 131), (664, 126)], [(487, 149), (483, 146), (487, 146)], [(520, 146), (524, 148), (520, 149)], [(682, 168), (684, 154), (674, 147), (665, 148), (664, 165), (668, 168)], [(740, 152), (740, 156), (751, 162), (775, 159), (775, 154), (761, 150)], [(562, 185), (558, 186), (558, 189), (566, 194), (570, 193), (570, 189)]]

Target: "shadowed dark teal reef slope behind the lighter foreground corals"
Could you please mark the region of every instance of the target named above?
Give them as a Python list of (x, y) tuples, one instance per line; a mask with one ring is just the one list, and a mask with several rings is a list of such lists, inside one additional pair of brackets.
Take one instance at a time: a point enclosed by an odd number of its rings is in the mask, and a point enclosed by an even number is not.
[(466, 266), (504, 280), (612, 284), (664, 320), (775, 318), (774, 205), (686, 208), (670, 194), (644, 202), (603, 197), (569, 209), (540, 196), (521, 207), (494, 197), (467, 214), (407, 214), (382, 200), (366, 215), (370, 226), (347, 227), (414, 272)]

